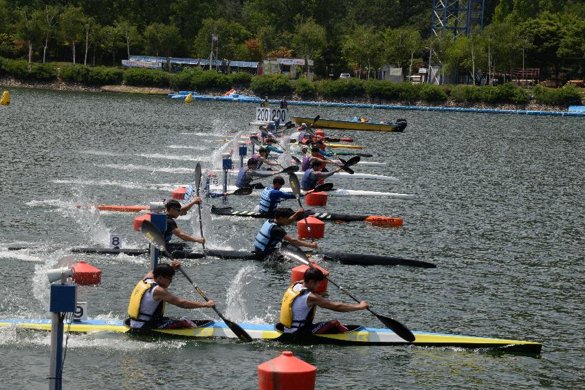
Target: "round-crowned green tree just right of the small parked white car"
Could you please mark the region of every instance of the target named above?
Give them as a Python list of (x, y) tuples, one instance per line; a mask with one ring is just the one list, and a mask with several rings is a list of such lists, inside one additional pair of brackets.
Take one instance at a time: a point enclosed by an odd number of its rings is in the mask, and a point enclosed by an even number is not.
[(381, 65), (382, 35), (374, 32), (371, 27), (356, 25), (344, 36), (342, 53), (350, 65), (357, 67), (359, 78), (362, 78), (362, 67), (367, 64), (369, 78), (371, 63), (375, 66)]

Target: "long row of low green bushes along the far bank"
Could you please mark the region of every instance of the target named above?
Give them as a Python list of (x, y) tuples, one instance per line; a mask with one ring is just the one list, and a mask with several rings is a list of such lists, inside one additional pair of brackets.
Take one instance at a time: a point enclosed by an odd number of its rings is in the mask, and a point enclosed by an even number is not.
[[(84, 65), (29, 65), (26, 61), (0, 57), (0, 76), (10, 76), (17, 81), (34, 83), (71, 83), (88, 88), (109, 86), (109, 91), (132, 93), (165, 93), (167, 90), (195, 90), (218, 94), (229, 90), (250, 91), (257, 96), (303, 100), (332, 100), (393, 103), (405, 105), (527, 105), (568, 107), (581, 105), (583, 94), (573, 86), (559, 89), (540, 85), (532, 89), (514, 87), (511, 84), (496, 87), (473, 85), (430, 85), (389, 83), (383, 80), (318, 80), (300, 78), (289, 80), (281, 75), (252, 76), (240, 72), (230, 75), (186, 69), (171, 74), (159, 69), (119, 67), (87, 67)], [(119, 87), (115, 87), (119, 86)], [(148, 92), (151, 89), (152, 92)]]

